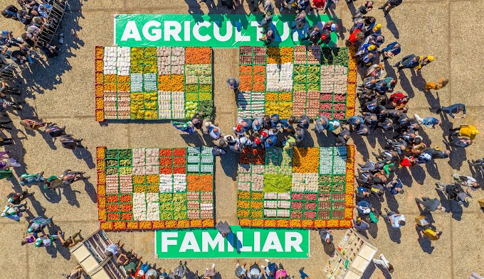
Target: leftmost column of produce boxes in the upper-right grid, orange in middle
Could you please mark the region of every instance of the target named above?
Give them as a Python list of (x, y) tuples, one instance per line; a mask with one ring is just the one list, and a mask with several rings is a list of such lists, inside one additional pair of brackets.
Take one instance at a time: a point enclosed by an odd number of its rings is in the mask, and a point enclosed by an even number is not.
[(241, 47), (240, 84), (237, 97), (238, 116), (254, 118), (264, 115), (265, 48)]

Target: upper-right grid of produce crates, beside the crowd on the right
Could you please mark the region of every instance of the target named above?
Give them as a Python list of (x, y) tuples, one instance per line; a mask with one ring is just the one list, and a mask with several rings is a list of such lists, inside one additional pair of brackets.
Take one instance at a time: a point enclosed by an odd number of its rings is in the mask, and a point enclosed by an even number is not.
[[(356, 89), (356, 71), (348, 72), (352, 62), (348, 51), (318, 45), (241, 46), (238, 116), (279, 114), (285, 119), (306, 114), (317, 119), (323, 114), (329, 119), (346, 119), (347, 109), (354, 114), (354, 100), (347, 98), (348, 89), (353, 85)], [(348, 87), (349, 82), (353, 83)]]

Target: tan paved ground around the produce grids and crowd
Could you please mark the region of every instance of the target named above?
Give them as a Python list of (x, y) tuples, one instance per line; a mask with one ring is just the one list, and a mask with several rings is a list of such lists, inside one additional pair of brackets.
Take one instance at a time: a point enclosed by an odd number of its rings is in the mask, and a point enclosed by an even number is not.
[[(11, 1), (0, 1), (2, 6)], [(379, 6), (383, 1), (377, 1)], [(135, 147), (178, 147), (186, 144), (200, 143), (191, 136), (179, 136), (169, 124), (117, 124), (109, 123), (100, 126), (94, 121), (93, 100), (93, 54), (95, 45), (112, 44), (112, 14), (113, 13), (226, 13), (221, 9), (206, 8), (204, 4), (196, 4), (195, 0), (185, 1), (128, 1), (128, 0), (90, 0), (73, 1), (70, 3), (72, 11), (65, 16), (63, 30), (65, 42), (63, 55), (48, 62), (48, 65), (33, 67), (35, 74), (26, 74), (28, 94), (26, 109), (21, 116), (10, 114), (19, 127), (20, 118), (38, 116), (47, 121), (56, 121), (67, 126), (68, 132), (85, 138), (88, 151), (73, 153), (60, 147), (58, 143), (46, 143), (42, 133), (20, 131), (6, 131), (7, 136), (15, 139), (15, 146), (7, 146), (14, 158), (21, 160), (28, 173), (44, 170), (46, 174), (61, 173), (65, 168), (85, 170), (95, 177), (95, 146), (109, 146), (112, 148)], [(244, 4), (245, 11), (248, 11)], [(353, 6), (350, 5), (352, 9)], [(467, 104), (468, 116), (456, 120), (459, 124), (474, 124), (484, 121), (481, 114), (484, 106), (484, 94), (480, 92), (484, 82), (478, 77), (484, 66), (477, 55), (482, 38), (476, 37), (475, 31), (483, 27), (481, 13), (484, 9), (483, 0), (406, 0), (404, 4), (391, 12), (391, 17), (384, 19), (381, 11), (372, 11), (383, 24), (383, 33), (387, 42), (399, 40), (403, 45), (402, 55), (415, 53), (416, 55), (435, 55), (436, 60), (425, 67), (421, 75), (412, 75), (409, 70), (399, 75), (397, 89), (404, 89), (413, 99), (409, 106), (411, 113), (421, 116), (430, 114), (428, 108), (438, 107), (439, 104), (448, 105), (456, 102)], [(237, 13), (245, 12), (238, 9)], [(349, 28), (350, 13), (344, 1), (340, 1), (336, 13), (342, 19), (344, 27)], [(19, 23), (2, 19), (3, 28), (18, 31)], [(343, 30), (343, 28), (341, 28)], [(72, 35), (73, 31), (75, 35)], [(342, 38), (348, 33), (343, 31)], [(342, 45), (342, 40), (340, 40)], [(237, 75), (237, 50), (215, 50), (215, 104), (217, 109), (216, 122), (223, 131), (228, 131), (236, 120), (236, 105), (233, 93), (230, 92), (224, 80), (227, 75)], [(45, 68), (44, 68), (45, 67)], [(395, 76), (393, 70), (389, 74)], [(439, 77), (447, 77), (450, 84), (436, 94), (423, 92), (424, 80), (433, 81)], [(435, 130), (426, 129), (423, 133), (426, 141), (443, 148), (441, 139), (451, 126), (445, 123)], [(480, 126), (483, 129), (482, 126)], [(11, 133), (11, 134), (10, 134)], [(174, 136), (172, 134), (174, 133)], [(314, 133), (312, 141), (317, 145)], [(437, 197), (433, 184), (442, 180), (451, 181), (451, 173), (456, 170), (463, 175), (469, 175), (470, 170), (465, 163), (468, 158), (480, 158), (483, 153), (483, 136), (478, 136), (473, 146), (465, 151), (456, 151), (451, 160), (438, 160), (436, 164), (427, 164), (410, 171), (399, 170), (399, 176), (404, 184), (409, 186), (404, 195), (391, 200), (390, 208), (397, 209), (409, 219), (419, 214), (414, 197), (428, 195)], [(48, 137), (46, 137), (48, 138)], [(357, 160), (369, 158), (369, 153), (379, 147), (381, 138), (370, 137), (357, 143)], [(227, 219), (236, 224), (236, 159), (227, 155), (223, 160), (217, 159), (216, 165), (216, 218)], [(17, 169), (21, 175), (23, 169)], [(482, 182), (482, 177), (480, 177)], [(12, 182), (1, 180), (1, 195), (6, 195), (12, 188), (19, 190), (16, 180)], [(95, 206), (95, 180), (76, 182), (72, 189), (61, 192), (46, 193), (35, 189), (36, 195), (31, 198), (31, 213), (54, 215), (56, 226), (72, 233), (82, 228), (85, 234), (98, 228), (98, 217)], [(483, 197), (482, 191), (476, 193)], [(386, 202), (385, 202), (386, 204)], [(386, 207), (386, 205), (384, 205)], [(483, 212), (474, 201), (469, 207), (461, 209), (456, 204), (444, 206), (453, 213), (435, 214), (438, 229), (443, 231), (440, 240), (433, 242), (419, 242), (411, 221), (401, 229), (389, 229), (383, 221), (372, 228), (369, 238), (379, 247), (380, 251), (395, 266), (393, 278), (468, 278), (471, 271), (484, 273), (483, 261)], [(64, 248), (34, 248), (20, 246), (26, 221), (14, 223), (8, 219), (0, 219), (1, 248), (9, 253), (8, 257), (0, 259), (0, 278), (60, 278), (61, 273), (70, 270), (75, 262)], [(51, 232), (56, 228), (52, 228)], [(342, 231), (335, 232), (335, 239), (340, 239)], [(127, 247), (133, 248), (149, 262), (154, 262), (152, 232), (110, 233), (112, 239), (120, 238)], [(283, 261), (290, 273), (295, 274), (300, 266), (305, 266), (311, 278), (323, 278), (322, 270), (328, 257), (323, 251), (317, 232), (311, 233), (311, 258), (300, 261)], [(277, 259), (272, 259), (278, 262)], [(241, 259), (242, 262), (263, 259)], [(158, 266), (167, 268), (176, 266), (174, 260), (157, 260)], [(204, 269), (212, 261), (189, 260), (189, 268)], [(235, 260), (217, 260), (216, 268), (220, 270), (222, 278), (233, 278)], [(369, 268), (364, 278), (384, 278), (377, 268)]]

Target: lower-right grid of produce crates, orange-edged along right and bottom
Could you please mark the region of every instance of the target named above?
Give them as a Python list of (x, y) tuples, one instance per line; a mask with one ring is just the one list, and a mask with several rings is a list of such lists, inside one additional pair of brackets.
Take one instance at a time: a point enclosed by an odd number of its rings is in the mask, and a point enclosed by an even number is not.
[(239, 157), (241, 226), (349, 227), (353, 194), (354, 146), (246, 148)]

